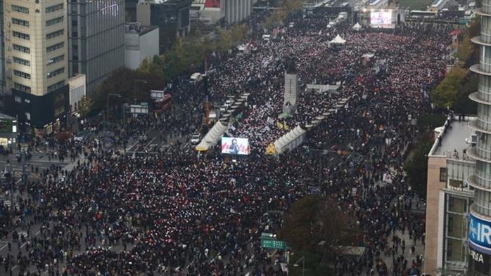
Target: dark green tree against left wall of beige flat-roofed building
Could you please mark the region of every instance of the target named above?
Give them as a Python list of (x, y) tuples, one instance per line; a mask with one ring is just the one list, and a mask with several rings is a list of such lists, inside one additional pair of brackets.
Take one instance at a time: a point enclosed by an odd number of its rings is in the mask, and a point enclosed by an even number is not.
[(428, 152), (433, 143), (416, 144), (412, 156), (404, 164), (404, 171), (409, 177), (409, 185), (419, 197), (426, 198), (426, 183), (428, 178)]

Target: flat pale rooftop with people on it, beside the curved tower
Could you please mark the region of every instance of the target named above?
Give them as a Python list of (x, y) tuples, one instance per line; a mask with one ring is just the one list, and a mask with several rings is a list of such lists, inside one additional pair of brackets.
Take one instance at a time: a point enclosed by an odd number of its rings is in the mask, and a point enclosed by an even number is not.
[(429, 155), (454, 157), (454, 152), (457, 152), (457, 158), (461, 157), (463, 150), (470, 146), (467, 140), (471, 138), (473, 130), (468, 124), (474, 119), (476, 117), (465, 117), (464, 121), (459, 121), (457, 117), (454, 117), (453, 121), (447, 119), (445, 126), (440, 128), (441, 132), (435, 139)]

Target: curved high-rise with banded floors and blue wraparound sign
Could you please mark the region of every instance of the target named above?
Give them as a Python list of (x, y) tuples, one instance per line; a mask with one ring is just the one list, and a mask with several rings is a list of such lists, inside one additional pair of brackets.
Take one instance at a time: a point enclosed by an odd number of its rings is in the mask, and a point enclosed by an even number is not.
[(478, 119), (470, 124), (476, 129), (477, 143), (469, 150), (476, 159), (476, 173), (468, 181), (475, 192), (468, 224), (467, 275), (491, 272), (491, 0), (483, 0), (480, 15), (480, 37), (472, 39), (480, 46), (480, 63), (471, 66), (479, 76), (479, 86), (470, 96), (478, 104)]

